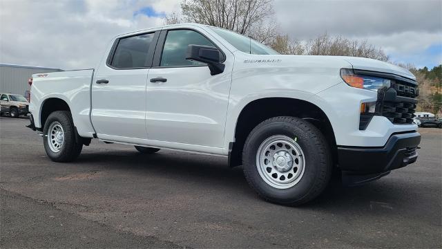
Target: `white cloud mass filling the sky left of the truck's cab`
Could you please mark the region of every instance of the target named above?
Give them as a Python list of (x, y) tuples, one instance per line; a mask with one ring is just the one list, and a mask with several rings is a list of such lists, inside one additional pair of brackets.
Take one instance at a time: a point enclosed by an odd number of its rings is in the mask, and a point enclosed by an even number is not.
[[(115, 35), (162, 25), (158, 17), (133, 16), (155, 5), (153, 0), (0, 1), (0, 63), (96, 67)], [(158, 11), (169, 12), (162, 8)]]

